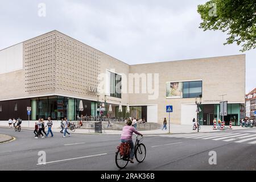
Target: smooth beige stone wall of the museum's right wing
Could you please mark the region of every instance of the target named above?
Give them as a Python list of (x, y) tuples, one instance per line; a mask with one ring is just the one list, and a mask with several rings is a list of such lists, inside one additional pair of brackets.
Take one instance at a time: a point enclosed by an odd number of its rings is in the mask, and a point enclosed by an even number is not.
[[(194, 104), (195, 98), (166, 98), (168, 81), (203, 81), (203, 104), (217, 104), (224, 100), (229, 103), (245, 102), (245, 55), (210, 57), (183, 61), (131, 65), (130, 73), (159, 73), (158, 100), (148, 100), (148, 94), (130, 94), (131, 105), (158, 104), (158, 122), (162, 123), (166, 105), (174, 106), (172, 123), (180, 123), (181, 104)], [(138, 86), (138, 85), (137, 85)], [(140, 85), (141, 87), (141, 85)]]

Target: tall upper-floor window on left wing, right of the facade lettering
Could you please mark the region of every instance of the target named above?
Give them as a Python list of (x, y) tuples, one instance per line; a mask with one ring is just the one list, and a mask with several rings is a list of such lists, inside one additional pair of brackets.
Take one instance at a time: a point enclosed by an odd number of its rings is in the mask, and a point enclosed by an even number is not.
[(117, 73), (109, 72), (109, 95), (111, 97), (121, 98), (122, 76)]

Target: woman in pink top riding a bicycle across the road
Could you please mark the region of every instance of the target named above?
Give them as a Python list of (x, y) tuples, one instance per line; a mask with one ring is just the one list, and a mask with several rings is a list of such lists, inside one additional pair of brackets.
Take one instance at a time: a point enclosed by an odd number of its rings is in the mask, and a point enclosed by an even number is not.
[(122, 130), (122, 134), (121, 134), (121, 142), (125, 143), (125, 142), (129, 142), (130, 146), (131, 146), (131, 152), (130, 152), (130, 162), (133, 162), (133, 155), (134, 155), (134, 144), (133, 144), (133, 133), (137, 134), (137, 135), (141, 135), (143, 136), (141, 133), (139, 133), (137, 130), (135, 130), (135, 128), (133, 126), (131, 126), (132, 121), (129, 119), (126, 122), (127, 126), (123, 127)]

